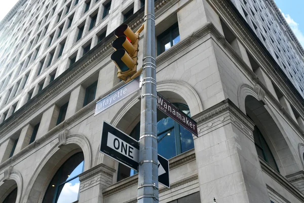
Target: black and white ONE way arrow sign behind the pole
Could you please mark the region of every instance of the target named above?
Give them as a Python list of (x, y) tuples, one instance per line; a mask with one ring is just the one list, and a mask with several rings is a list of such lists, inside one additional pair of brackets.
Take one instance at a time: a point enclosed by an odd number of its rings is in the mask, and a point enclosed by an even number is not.
[[(103, 122), (100, 152), (138, 171), (138, 142), (107, 122)], [(170, 188), (169, 161), (159, 154), (158, 173), (159, 182)]]

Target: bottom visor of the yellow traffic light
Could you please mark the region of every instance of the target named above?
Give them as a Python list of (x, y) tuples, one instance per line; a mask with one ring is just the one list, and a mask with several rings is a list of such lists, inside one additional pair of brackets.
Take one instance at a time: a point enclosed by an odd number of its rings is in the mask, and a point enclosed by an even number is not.
[(124, 49), (118, 49), (111, 55), (111, 59), (121, 72), (129, 71), (135, 65), (135, 61), (129, 56)]

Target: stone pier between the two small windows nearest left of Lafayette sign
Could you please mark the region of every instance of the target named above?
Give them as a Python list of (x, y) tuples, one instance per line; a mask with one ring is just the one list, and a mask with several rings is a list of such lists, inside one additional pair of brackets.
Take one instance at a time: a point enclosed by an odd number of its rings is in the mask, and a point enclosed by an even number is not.
[(83, 108), (84, 99), (86, 95), (86, 89), (80, 85), (71, 92), (70, 99), (68, 101), (68, 107), (65, 115), (65, 119), (70, 118), (78, 110)]

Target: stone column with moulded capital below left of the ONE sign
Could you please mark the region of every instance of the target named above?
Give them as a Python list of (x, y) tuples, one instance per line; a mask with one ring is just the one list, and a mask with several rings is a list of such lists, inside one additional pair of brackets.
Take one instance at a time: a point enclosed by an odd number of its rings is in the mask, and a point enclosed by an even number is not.
[(115, 169), (102, 163), (79, 175), (79, 202), (102, 203), (102, 189), (113, 182)]

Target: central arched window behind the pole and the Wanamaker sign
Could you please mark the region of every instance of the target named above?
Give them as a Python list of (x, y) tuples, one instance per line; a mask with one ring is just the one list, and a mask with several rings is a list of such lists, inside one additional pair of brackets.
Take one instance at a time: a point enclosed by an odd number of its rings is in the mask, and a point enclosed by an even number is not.
[[(188, 106), (179, 103), (174, 105), (186, 115), (191, 116)], [(130, 136), (139, 140), (139, 130), (140, 122), (134, 127)], [(194, 148), (192, 133), (160, 110), (157, 110), (157, 137), (158, 153), (167, 159)], [(136, 173), (129, 167), (119, 164), (117, 181)]]

